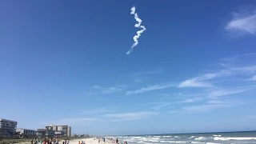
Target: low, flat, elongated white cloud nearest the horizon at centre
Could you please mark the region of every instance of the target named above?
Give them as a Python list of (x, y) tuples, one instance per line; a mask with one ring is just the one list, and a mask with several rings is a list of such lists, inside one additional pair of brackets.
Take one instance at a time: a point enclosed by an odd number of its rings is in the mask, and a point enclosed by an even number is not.
[(150, 111), (140, 111), (134, 113), (119, 113), (119, 114), (105, 114), (106, 118), (111, 118), (113, 121), (130, 121), (149, 118), (158, 113)]

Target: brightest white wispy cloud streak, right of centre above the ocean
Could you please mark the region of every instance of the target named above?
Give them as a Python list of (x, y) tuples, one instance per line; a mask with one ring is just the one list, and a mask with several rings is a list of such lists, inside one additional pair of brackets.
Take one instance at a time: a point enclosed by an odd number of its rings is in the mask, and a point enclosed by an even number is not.
[(210, 82), (206, 82), (207, 80), (221, 77), (224, 75), (230, 74), (227, 70), (220, 70), (216, 73), (203, 74), (202, 76), (191, 78), (186, 81), (179, 83), (178, 87), (214, 87)]

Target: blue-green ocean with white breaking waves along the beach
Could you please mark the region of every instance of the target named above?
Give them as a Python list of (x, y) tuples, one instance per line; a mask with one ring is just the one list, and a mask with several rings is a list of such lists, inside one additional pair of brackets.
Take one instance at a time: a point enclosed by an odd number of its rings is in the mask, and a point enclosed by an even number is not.
[(128, 144), (170, 144), (170, 143), (198, 143), (198, 144), (256, 144), (256, 131), (206, 133), (206, 134), (150, 134), (118, 136), (119, 142)]

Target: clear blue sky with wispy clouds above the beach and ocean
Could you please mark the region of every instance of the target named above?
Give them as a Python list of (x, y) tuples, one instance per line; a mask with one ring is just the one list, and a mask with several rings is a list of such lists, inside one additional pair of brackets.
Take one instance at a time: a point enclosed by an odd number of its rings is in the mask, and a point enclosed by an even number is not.
[[(1, 1), (0, 114), (76, 134), (255, 130), (254, 1)], [(138, 29), (130, 8), (146, 26)]]

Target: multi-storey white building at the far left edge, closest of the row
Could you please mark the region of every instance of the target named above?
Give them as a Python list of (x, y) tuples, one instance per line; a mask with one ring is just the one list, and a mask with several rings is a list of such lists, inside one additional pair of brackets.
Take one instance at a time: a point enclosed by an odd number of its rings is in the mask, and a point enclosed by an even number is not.
[(17, 122), (0, 118), (0, 136), (10, 137), (16, 132)]

